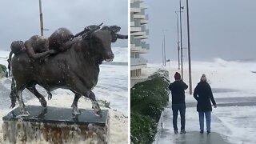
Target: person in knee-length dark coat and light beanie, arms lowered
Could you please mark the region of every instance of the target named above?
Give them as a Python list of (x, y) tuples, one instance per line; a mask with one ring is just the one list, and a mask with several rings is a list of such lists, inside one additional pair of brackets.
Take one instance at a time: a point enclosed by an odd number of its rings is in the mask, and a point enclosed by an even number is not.
[(210, 134), (210, 117), (212, 111), (210, 101), (214, 104), (214, 108), (217, 106), (210, 85), (207, 82), (206, 74), (202, 74), (198, 86), (194, 88), (194, 98), (198, 101), (197, 111), (199, 115), (200, 134), (203, 134), (204, 130), (204, 115), (206, 115), (207, 134)]

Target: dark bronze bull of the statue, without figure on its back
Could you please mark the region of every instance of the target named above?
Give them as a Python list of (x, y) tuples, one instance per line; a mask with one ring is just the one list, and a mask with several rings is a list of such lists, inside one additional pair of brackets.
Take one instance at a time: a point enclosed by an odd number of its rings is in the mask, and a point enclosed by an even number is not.
[[(10, 59), (13, 73), (11, 107), (15, 106), (18, 98), (22, 114), (29, 115), (22, 100), (24, 89), (30, 90), (37, 96), (41, 105), (46, 107), (45, 98), (35, 88), (38, 84), (46, 89), (50, 96), (51, 90), (71, 90), (74, 93), (71, 107), (75, 115), (80, 114), (78, 99), (82, 96), (90, 98), (95, 114), (101, 115), (101, 109), (92, 90), (98, 82), (99, 65), (102, 61), (112, 61), (114, 58), (111, 42), (116, 35), (114, 36), (110, 30), (100, 29), (100, 26), (71, 38), (70, 49), (50, 55), (45, 61), (31, 61), (26, 52), (14, 55)], [(127, 36), (122, 36), (123, 38)]]

